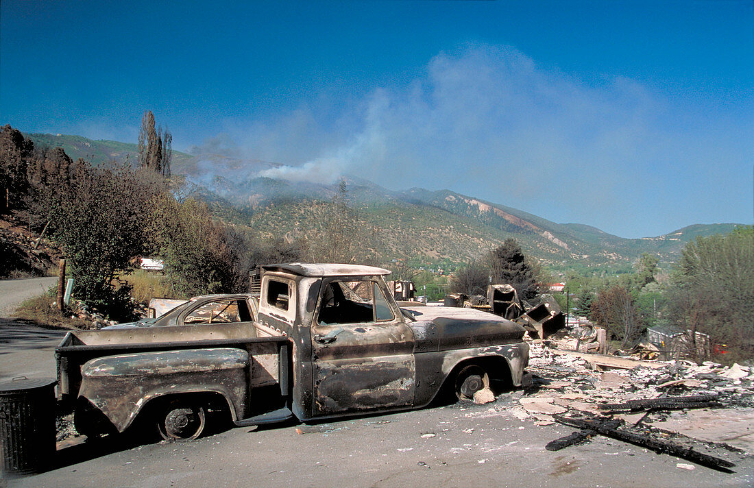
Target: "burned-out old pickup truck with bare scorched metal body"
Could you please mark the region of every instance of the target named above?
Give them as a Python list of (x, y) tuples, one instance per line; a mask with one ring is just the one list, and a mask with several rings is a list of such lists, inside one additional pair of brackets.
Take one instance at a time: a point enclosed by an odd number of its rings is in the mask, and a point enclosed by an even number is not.
[(523, 327), (464, 308), (399, 308), (389, 273), (266, 265), (258, 296), (225, 300), (246, 312), (70, 332), (56, 350), (59, 400), (75, 410), (82, 434), (146, 425), (166, 439), (192, 439), (212, 417), (239, 426), (308, 421), (521, 384)]

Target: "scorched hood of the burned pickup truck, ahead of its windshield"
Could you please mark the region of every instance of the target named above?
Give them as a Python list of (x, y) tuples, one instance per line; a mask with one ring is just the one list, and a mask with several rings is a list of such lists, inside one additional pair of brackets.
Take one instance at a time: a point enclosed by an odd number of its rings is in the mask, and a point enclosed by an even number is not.
[(405, 307), (415, 322), (415, 351), (445, 351), (521, 342), (524, 328), (474, 308)]

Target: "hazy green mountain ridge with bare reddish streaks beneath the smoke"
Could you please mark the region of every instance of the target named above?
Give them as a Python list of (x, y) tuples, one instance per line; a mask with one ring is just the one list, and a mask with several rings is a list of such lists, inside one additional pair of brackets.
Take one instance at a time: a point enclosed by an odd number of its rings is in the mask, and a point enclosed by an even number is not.
[[(61, 146), (71, 158), (136, 161), (138, 146), (79, 136), (25, 134), (35, 146)], [(293, 236), (320, 232), (322, 206), (338, 191), (337, 184), (290, 182), (259, 173), (280, 167), (238, 155), (189, 155), (173, 152), (173, 174), (185, 178), (192, 194), (208, 201), (234, 222), (262, 235)], [(449, 259), (467, 262), (505, 238), (520, 241), (526, 252), (550, 265), (627, 265), (643, 252), (663, 261), (677, 259), (682, 247), (698, 235), (731, 232), (734, 223), (691, 224), (667, 234), (621, 238), (583, 223), (554, 223), (524, 210), (463, 195), (449, 189), (412, 187), (385, 189), (357, 176), (345, 176), (347, 200), (363, 216), (363, 224), (382, 229), (386, 259)], [(400, 238), (399, 238), (400, 236)]]

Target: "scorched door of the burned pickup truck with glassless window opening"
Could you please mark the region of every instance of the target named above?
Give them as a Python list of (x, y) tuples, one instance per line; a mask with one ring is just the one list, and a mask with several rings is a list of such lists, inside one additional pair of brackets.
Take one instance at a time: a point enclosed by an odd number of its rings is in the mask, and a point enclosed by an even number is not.
[(311, 323), (313, 416), (411, 406), (414, 336), (377, 278), (326, 278)]

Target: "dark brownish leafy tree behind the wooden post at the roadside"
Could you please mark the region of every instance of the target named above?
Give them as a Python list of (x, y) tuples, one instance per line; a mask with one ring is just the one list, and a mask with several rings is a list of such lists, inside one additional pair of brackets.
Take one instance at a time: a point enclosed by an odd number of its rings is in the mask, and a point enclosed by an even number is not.
[(157, 189), (125, 164), (70, 164), (60, 152), (52, 152), (53, 170), (42, 171), (44, 183), (35, 186), (38, 219), (50, 222), (51, 235), (63, 248), (75, 296), (127, 316), (130, 290), (119, 278), (134, 269), (133, 257), (147, 250), (147, 209)]

